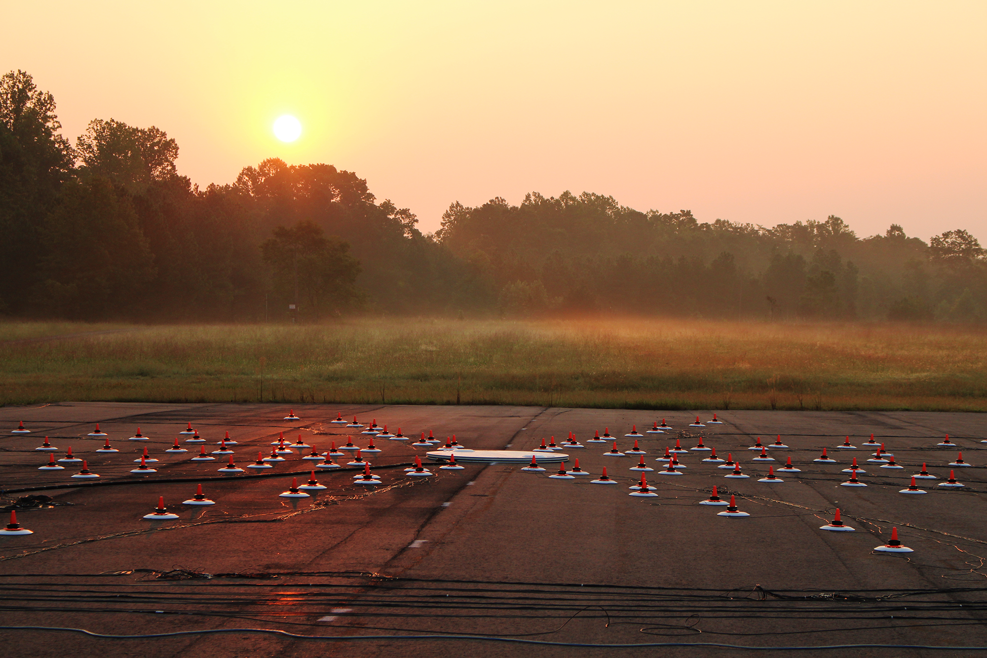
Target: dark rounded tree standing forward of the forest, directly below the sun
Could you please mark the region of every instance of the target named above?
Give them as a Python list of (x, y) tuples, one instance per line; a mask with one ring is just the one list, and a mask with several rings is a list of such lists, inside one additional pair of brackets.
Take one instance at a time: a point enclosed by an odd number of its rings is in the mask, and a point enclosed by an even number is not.
[(261, 250), (273, 274), (275, 294), (281, 301), (301, 305), (299, 316), (317, 319), (362, 302), (355, 288), (360, 264), (348, 254), (349, 244), (327, 237), (314, 222), (278, 226)]

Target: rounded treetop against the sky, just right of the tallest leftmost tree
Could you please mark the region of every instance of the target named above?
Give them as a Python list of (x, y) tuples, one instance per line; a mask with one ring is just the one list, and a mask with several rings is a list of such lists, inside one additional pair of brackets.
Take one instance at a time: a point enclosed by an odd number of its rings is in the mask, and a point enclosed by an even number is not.
[(118, 185), (146, 185), (178, 175), (178, 142), (153, 125), (139, 128), (94, 119), (76, 140), (76, 150), (84, 174), (104, 176)]

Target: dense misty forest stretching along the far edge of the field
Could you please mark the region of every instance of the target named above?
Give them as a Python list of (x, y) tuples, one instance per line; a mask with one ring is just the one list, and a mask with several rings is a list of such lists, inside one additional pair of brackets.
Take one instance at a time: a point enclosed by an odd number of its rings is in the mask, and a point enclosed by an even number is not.
[[(948, 230), (861, 238), (839, 217), (766, 228), (594, 194), (408, 208), (327, 164), (267, 159), (232, 185), (177, 171), (164, 130), (93, 120), (0, 78), (0, 313), (315, 321), (350, 313), (987, 321), (987, 259)], [(296, 305), (294, 310), (289, 304)]]

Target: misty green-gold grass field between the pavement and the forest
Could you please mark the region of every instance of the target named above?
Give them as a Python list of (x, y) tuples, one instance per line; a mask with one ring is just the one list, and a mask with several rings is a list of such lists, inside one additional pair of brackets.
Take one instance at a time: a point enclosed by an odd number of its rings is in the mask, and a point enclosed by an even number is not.
[(395, 318), (23, 340), (119, 328), (0, 324), (0, 403), (987, 410), (987, 337), (975, 328)]

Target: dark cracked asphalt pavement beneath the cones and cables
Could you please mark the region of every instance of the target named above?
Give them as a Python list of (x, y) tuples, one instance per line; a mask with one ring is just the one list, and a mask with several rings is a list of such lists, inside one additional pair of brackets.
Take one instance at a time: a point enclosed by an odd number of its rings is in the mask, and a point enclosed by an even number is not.
[[(984, 417), (922, 412), (646, 412), (504, 406), (350, 406), (62, 403), (0, 409), (3, 505), (34, 535), (0, 537), (0, 630), (7, 655), (64, 656), (968, 656), (984, 647), (981, 598), (987, 579)], [(431, 449), (376, 440), (367, 455), (382, 484), (353, 484), (354, 469), (321, 470), (327, 489), (278, 496), (292, 477), (309, 478), (310, 449), (257, 475), (224, 475), (227, 460), (193, 462), (229, 432), (241, 467), (283, 433), (320, 452), (368, 437), (330, 423), (342, 413), (411, 437), (455, 435), (471, 449), (531, 450), (569, 432), (566, 449), (592, 476), (554, 479), (551, 466), (430, 465), (404, 474)], [(705, 427), (689, 427), (696, 416)], [(640, 455), (605, 454), (586, 443), (609, 429), (624, 435), (664, 418), (664, 434), (638, 439), (655, 497), (630, 496)], [(7, 434), (19, 421), (28, 435)], [(120, 452), (95, 452), (96, 423)], [(140, 427), (146, 442), (127, 439)], [(868, 462), (874, 441), (902, 469)], [(939, 446), (949, 435), (951, 446)], [(43, 471), (49, 437), (100, 478), (75, 480), (76, 464)], [(754, 461), (749, 448), (782, 441)], [(856, 450), (836, 447), (849, 437)], [(190, 452), (164, 452), (178, 438)], [(704, 462), (702, 438), (730, 453), (747, 479)], [(655, 461), (678, 440), (682, 475)], [(144, 448), (157, 472), (133, 474)], [(813, 461), (823, 449), (838, 463)], [(959, 451), (970, 466), (949, 466)], [(797, 472), (760, 482), (791, 456)], [(856, 456), (866, 487), (842, 486)], [(340, 461), (340, 459), (337, 459)], [(342, 462), (348, 461), (348, 457)], [(922, 463), (938, 479), (926, 494), (902, 494)], [(594, 484), (606, 466), (615, 485)], [(949, 470), (966, 486), (938, 485)], [(196, 484), (216, 505), (182, 505)], [(58, 488), (73, 485), (71, 488)], [(78, 486), (75, 486), (78, 485)], [(744, 518), (700, 505), (717, 485)], [(178, 520), (145, 521), (163, 496)], [(44, 498), (27, 498), (44, 497)], [(33, 506), (35, 505), (35, 506)], [(839, 508), (855, 532), (819, 530)], [(3, 512), (3, 524), (9, 512)], [(912, 553), (873, 551), (896, 527)], [(100, 638), (68, 630), (81, 628)], [(287, 634), (250, 632), (266, 629)], [(147, 637), (160, 633), (200, 634)], [(355, 639), (377, 636), (377, 639)], [(466, 638), (464, 636), (471, 636)], [(639, 646), (639, 645), (650, 646)], [(879, 645), (866, 647), (861, 645)], [(615, 646), (623, 645), (623, 646)], [(654, 646), (663, 645), (663, 646)], [(796, 649), (851, 645), (844, 649)], [(752, 647), (750, 649), (736, 647)], [(768, 650), (774, 648), (774, 650)]]

